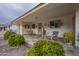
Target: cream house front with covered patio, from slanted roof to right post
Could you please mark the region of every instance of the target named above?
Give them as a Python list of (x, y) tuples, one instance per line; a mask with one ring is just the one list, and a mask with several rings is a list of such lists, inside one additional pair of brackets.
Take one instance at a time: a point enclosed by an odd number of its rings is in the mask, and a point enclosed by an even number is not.
[(73, 42), (78, 47), (78, 6), (79, 4), (40, 4), (14, 20), (13, 24), (17, 26), (17, 33), (22, 35), (52, 36), (56, 31), (57, 37), (63, 37), (65, 32), (72, 32)]

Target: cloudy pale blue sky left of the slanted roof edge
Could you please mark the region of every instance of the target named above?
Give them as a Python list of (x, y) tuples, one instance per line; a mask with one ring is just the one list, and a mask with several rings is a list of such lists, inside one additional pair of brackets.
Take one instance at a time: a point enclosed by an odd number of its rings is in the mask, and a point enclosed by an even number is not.
[(39, 3), (0, 3), (0, 24), (10, 23), (38, 4)]

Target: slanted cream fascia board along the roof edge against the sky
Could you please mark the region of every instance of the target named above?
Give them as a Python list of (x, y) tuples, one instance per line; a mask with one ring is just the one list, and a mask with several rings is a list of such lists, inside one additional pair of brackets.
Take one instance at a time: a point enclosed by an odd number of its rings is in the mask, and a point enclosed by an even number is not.
[(30, 11), (26, 12), (22, 16), (20, 16), (20, 17), (16, 18), (15, 20), (13, 20), (11, 23), (12, 24), (16, 24), (16, 22), (19, 22), (19, 20), (22, 20), (22, 18), (27, 17), (27, 16), (33, 14), (34, 12), (40, 10), (41, 8), (43, 8), (43, 7), (47, 6), (47, 5), (48, 5), (48, 3), (40, 3), (35, 8), (31, 9)]

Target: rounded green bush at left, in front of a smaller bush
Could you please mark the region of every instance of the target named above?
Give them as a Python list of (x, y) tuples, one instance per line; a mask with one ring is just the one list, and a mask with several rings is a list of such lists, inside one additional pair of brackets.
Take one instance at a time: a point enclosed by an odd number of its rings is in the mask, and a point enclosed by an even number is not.
[(13, 34), (9, 37), (8, 44), (11, 47), (18, 47), (24, 44), (24, 37), (20, 34)]

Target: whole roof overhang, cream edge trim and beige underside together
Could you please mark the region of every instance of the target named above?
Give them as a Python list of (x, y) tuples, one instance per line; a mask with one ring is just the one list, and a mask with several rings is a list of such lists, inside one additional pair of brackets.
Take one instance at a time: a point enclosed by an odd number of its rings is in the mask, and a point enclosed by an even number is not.
[[(79, 7), (79, 4), (66, 4), (66, 3), (50, 3), (50, 4), (39, 4), (34, 9), (25, 13), (21, 17), (12, 21), (13, 24), (20, 24), (33, 21), (42, 21), (53, 17), (68, 15), (74, 13), (73, 7)], [(38, 16), (39, 19), (35, 20), (35, 16)]]

